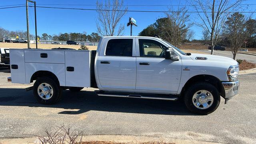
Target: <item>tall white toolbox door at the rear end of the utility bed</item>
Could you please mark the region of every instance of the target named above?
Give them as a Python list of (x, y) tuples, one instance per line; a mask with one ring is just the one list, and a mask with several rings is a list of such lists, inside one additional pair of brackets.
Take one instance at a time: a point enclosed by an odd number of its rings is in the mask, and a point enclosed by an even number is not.
[(12, 83), (26, 84), (24, 50), (10, 49)]

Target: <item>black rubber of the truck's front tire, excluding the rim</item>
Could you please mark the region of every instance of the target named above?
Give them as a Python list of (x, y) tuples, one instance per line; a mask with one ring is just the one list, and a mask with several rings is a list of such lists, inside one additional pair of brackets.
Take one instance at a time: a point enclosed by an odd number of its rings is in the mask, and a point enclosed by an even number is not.
[[(192, 102), (192, 97), (198, 90), (208, 90), (209, 92), (212, 93), (214, 100), (213, 100), (212, 106), (210, 106), (210, 108), (201, 110), (199, 108), (196, 108), (196, 106), (194, 106), (194, 104)], [(213, 86), (212, 84), (209, 84), (206, 82), (196, 83), (196, 84), (193, 84), (192, 86), (190, 86), (190, 88), (188, 88), (188, 90), (186, 90), (186, 93), (184, 95), (184, 102), (185, 102), (188, 110), (190, 110), (191, 112), (193, 112), (195, 114), (206, 115), (206, 114), (210, 114), (210, 113), (214, 112), (218, 108), (218, 106), (220, 104), (220, 94), (219, 94), (217, 88), (215, 86)]]

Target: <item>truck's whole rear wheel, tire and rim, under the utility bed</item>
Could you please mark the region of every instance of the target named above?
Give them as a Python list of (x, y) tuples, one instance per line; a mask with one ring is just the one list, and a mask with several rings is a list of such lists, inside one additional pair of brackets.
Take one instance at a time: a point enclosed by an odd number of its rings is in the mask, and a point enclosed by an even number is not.
[(34, 83), (34, 97), (41, 104), (54, 104), (62, 96), (62, 88), (51, 78), (38, 78)]

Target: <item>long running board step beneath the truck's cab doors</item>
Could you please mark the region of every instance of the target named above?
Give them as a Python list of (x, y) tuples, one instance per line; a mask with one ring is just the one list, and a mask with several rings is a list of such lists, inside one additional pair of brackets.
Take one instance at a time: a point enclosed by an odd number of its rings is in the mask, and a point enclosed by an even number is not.
[(113, 97), (124, 97), (124, 98), (145, 98), (145, 99), (154, 99), (154, 100), (178, 100), (178, 97), (153, 97), (153, 96), (141, 96), (137, 94), (129, 94), (129, 95), (122, 95), (122, 94), (99, 94), (98, 96), (113, 96)]

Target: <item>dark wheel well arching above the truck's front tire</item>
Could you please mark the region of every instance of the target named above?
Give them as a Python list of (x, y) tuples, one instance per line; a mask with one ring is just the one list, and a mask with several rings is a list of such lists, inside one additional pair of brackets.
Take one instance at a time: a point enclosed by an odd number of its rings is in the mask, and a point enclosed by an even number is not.
[(186, 82), (186, 84), (183, 86), (180, 96), (183, 96), (184, 91), (195, 82), (208, 82), (218, 89), (220, 96), (222, 96), (222, 97), (225, 96), (225, 90), (222, 85), (222, 82), (215, 76), (206, 75), (206, 74), (196, 75), (196, 76), (193, 76), (192, 78), (190, 78)]

